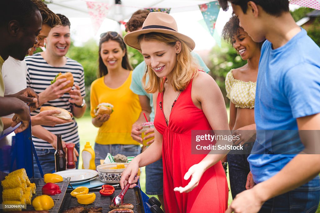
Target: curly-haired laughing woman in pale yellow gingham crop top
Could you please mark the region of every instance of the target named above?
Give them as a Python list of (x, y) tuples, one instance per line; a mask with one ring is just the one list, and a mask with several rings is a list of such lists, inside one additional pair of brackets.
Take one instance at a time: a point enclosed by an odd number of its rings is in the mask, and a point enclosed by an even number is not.
[(225, 82), (230, 99), (229, 128), (233, 134), (240, 136), (240, 140), (234, 141), (234, 144), (243, 145), (245, 150), (243, 154), (228, 154), (230, 188), (232, 198), (235, 198), (236, 194), (246, 189), (250, 172), (247, 157), (255, 140), (254, 99), (262, 43), (251, 39), (239, 26), (239, 19), (235, 15), (224, 26), (222, 35), (248, 62), (243, 67), (230, 70)]

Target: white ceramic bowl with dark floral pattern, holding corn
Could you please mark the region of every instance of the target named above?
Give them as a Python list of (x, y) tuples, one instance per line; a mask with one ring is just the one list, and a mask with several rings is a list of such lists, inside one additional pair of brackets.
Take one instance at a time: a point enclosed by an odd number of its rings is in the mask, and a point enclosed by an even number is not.
[(119, 183), (124, 169), (110, 169), (116, 167), (117, 164), (124, 164), (126, 167), (129, 163), (108, 163), (97, 166), (100, 181), (105, 183)]

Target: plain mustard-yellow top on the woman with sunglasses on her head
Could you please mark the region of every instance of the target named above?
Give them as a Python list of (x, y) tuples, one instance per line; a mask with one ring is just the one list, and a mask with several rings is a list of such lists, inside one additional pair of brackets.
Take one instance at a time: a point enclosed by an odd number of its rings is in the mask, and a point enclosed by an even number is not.
[(127, 80), (116, 89), (108, 87), (104, 83), (104, 77), (92, 82), (90, 91), (91, 116), (95, 117), (93, 110), (100, 103), (110, 103), (114, 106), (109, 120), (99, 128), (96, 143), (102, 145), (140, 145), (131, 137), (132, 124), (138, 120), (141, 112), (139, 97), (129, 88), (131, 79), (132, 71)]

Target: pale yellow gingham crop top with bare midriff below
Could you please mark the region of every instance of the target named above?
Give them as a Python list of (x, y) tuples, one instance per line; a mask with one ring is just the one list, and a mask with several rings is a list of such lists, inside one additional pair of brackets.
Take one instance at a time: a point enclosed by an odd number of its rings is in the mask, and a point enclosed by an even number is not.
[(257, 83), (234, 79), (232, 70), (228, 72), (225, 81), (228, 99), (230, 99), (237, 108), (254, 108)]

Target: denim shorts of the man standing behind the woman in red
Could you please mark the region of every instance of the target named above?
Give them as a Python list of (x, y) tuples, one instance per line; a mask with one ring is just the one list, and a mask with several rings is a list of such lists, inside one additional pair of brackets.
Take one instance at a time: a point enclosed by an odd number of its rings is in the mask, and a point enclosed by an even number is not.
[(146, 194), (163, 194), (163, 164), (162, 158), (146, 166)]

